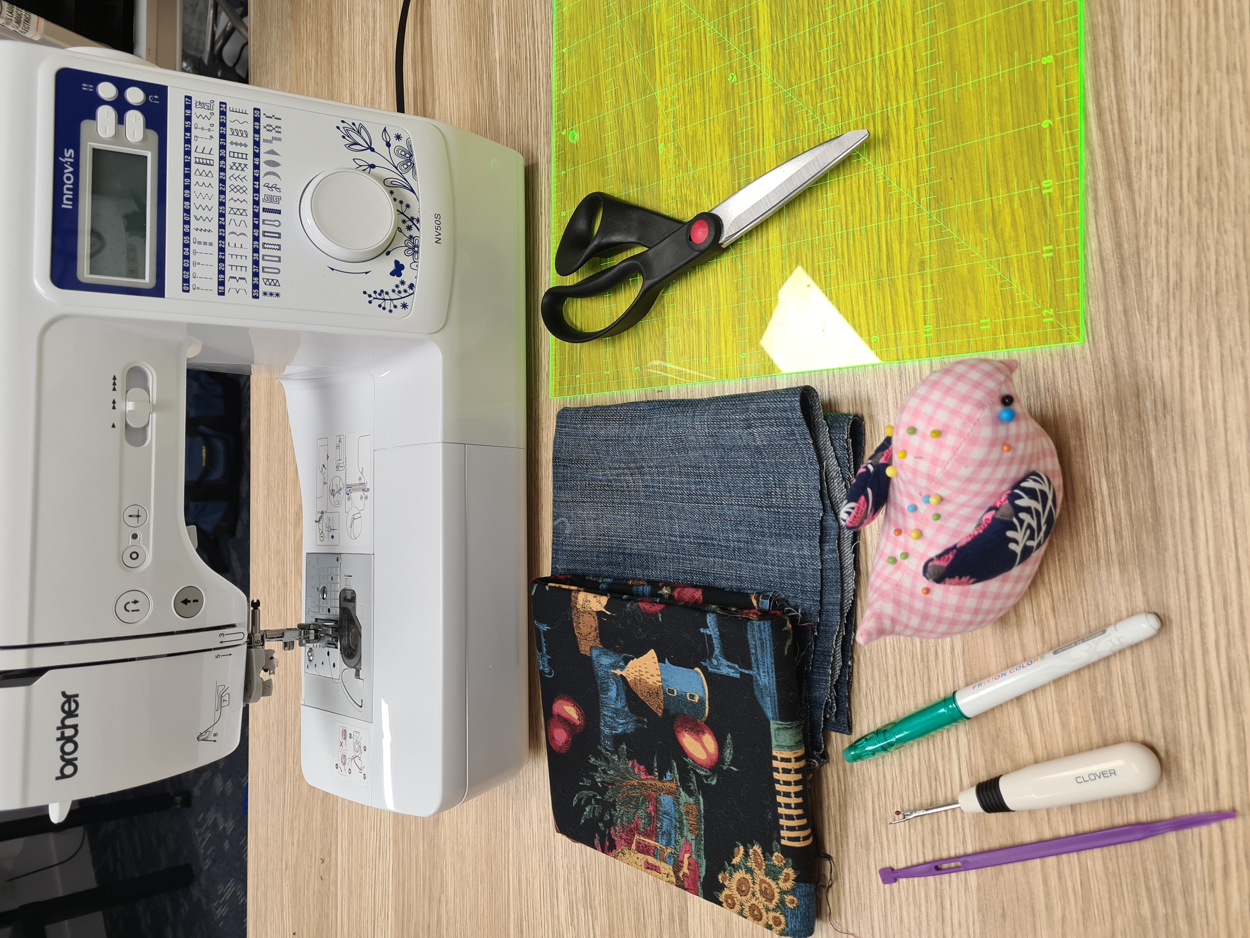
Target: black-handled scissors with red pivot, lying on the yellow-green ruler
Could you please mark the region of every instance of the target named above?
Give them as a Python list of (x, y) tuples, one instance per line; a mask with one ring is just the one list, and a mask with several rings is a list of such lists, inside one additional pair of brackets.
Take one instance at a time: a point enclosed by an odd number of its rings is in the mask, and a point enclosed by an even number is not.
[[(799, 193), (850, 156), (868, 140), (866, 130), (852, 130), (812, 146), (792, 160), (738, 190), (711, 211), (700, 211), (680, 221), (658, 211), (591, 193), (574, 209), (555, 251), (555, 270), (561, 276), (580, 270), (591, 258), (608, 258), (629, 248), (646, 248), (584, 280), (552, 286), (542, 294), (542, 323), (556, 339), (569, 343), (606, 339), (636, 325), (664, 293), (690, 268), (724, 253)], [(598, 226), (596, 226), (598, 220)], [(630, 278), (642, 278), (642, 286), (616, 321), (594, 333), (570, 325), (564, 316), (568, 299), (599, 296)]]

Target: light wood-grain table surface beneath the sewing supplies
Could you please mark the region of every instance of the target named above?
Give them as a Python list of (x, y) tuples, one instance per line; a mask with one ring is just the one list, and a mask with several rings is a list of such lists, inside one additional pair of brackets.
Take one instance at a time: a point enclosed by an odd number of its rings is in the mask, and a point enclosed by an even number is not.
[[(399, 6), (258, 0), (254, 83), (394, 108)], [(858, 650), (856, 727), (1134, 612), (1159, 613), (1164, 628), (971, 724), (815, 775), (819, 828), (838, 863), (832, 910), (861, 938), (1250, 934), (1244, 819), (891, 887), (876, 874), (1116, 824), (1250, 810), (1248, 6), (1090, 0), (1085, 15), (1089, 338), (1022, 353), (1016, 374), (1021, 399), (1059, 446), (1064, 513), (1032, 588), (998, 624)], [(506, 144), (526, 163), (530, 569), (539, 575), (550, 558), (559, 406), (546, 394), (548, 344), (536, 315), (550, 250), (551, 9), (549, 0), (414, 0), (409, 36), (408, 110)], [(811, 383), (826, 409), (862, 414), (875, 438), (935, 366), (671, 394)], [(252, 588), (272, 627), (299, 619), (301, 559), (295, 464), (271, 378), (254, 381), (252, 428)], [(862, 557), (875, 540), (874, 530)], [(520, 775), (436, 818), (389, 814), (310, 788), (299, 762), (299, 668), (294, 655), (281, 657), (274, 698), (251, 713), (251, 935), (761, 934), (555, 833), (532, 693)], [(1129, 739), (1162, 762), (1162, 780), (1148, 794), (885, 824), (895, 808)], [(835, 934), (828, 918), (818, 934)]]

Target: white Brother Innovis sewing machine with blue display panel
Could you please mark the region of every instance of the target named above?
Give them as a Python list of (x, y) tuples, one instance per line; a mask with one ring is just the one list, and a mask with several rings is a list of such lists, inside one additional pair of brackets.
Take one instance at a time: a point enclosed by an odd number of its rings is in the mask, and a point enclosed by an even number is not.
[[(0, 809), (229, 753), (432, 814), (525, 752), (522, 164), (431, 120), (0, 43)], [(182, 517), (188, 366), (280, 375), (302, 623)], [(296, 658), (298, 655), (298, 658)]]

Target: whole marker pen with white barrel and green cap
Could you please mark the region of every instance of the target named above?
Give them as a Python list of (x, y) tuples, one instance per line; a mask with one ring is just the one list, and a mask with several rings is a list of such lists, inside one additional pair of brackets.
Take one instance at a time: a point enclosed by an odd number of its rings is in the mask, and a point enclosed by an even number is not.
[(864, 762), (874, 755), (891, 753), (899, 747), (936, 733), (956, 723), (985, 713), (1034, 688), (1049, 684), (1055, 678), (1071, 674), (1086, 664), (1115, 654), (1122, 648), (1135, 645), (1159, 632), (1159, 617), (1154, 613), (1138, 613), (1122, 622), (1092, 635), (1069, 642), (1052, 652), (1039, 654), (1014, 668), (1008, 668), (984, 680), (956, 690), (950, 697), (909, 713), (902, 719), (886, 723), (860, 737), (842, 749), (846, 762)]

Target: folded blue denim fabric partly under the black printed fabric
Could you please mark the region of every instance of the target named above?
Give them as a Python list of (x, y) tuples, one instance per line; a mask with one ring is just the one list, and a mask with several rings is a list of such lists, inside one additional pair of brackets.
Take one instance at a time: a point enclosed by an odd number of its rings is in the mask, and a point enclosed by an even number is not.
[(824, 764), (822, 732), (851, 732), (858, 542), (836, 509), (862, 439), (810, 386), (565, 408), (551, 572), (785, 597), (812, 625), (805, 734)]

